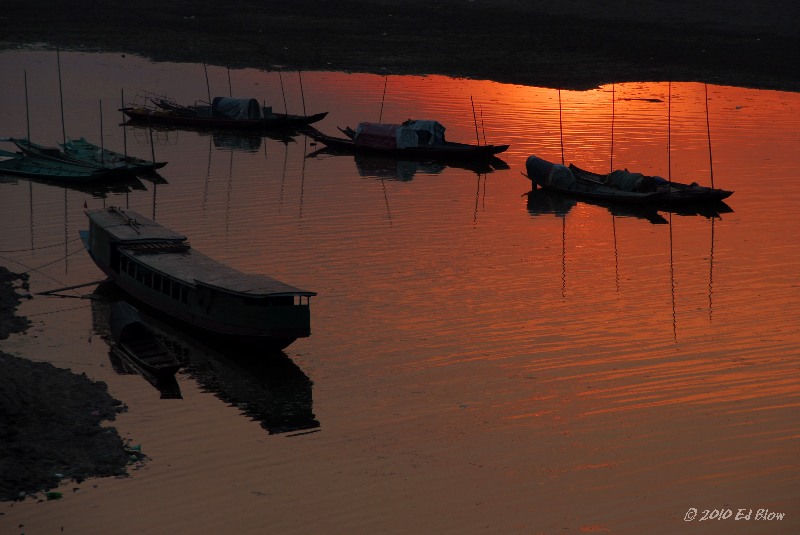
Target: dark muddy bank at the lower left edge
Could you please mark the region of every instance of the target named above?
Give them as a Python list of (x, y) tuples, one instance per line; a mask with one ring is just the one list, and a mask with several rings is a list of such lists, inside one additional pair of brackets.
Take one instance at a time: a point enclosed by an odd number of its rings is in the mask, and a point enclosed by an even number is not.
[[(18, 289), (26, 292), (27, 285), (27, 274), (0, 266), (0, 340), (30, 326), (16, 315)], [(127, 473), (124, 442), (104, 426), (126, 408), (105, 383), (3, 351), (0, 377), (0, 502), (36, 496), (63, 480), (79, 485)]]

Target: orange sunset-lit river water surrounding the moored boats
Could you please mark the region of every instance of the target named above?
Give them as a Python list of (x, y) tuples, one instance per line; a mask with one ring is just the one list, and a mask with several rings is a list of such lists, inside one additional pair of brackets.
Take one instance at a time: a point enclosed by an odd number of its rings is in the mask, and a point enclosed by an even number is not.
[[(150, 461), (67, 483), (58, 502), (0, 504), (0, 526), (671, 534), (696, 509), (697, 532), (800, 529), (800, 95), (37, 51), (0, 53), (0, 72), (0, 135), (102, 133), (169, 162), (160, 184), (0, 177), (0, 261), (30, 270), (31, 292), (102, 278), (78, 232), (85, 206), (113, 205), (318, 293), (311, 337), (273, 362), (169, 333), (186, 370), (166, 393), (109, 358), (102, 302), (24, 302), (33, 326), (0, 349), (106, 382), (129, 406), (112, 425)], [(329, 154), (305, 136), (120, 126), (142, 90), (329, 111), (315, 125), (329, 134), (432, 118), (451, 140), (511, 147), (475, 170)], [(529, 196), (531, 154), (735, 193), (713, 214)]]

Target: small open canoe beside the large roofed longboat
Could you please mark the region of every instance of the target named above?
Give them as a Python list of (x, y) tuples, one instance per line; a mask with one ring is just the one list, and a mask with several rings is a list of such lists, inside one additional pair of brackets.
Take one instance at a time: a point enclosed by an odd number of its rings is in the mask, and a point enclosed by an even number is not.
[(139, 311), (125, 301), (111, 305), (111, 349), (155, 380), (175, 375), (181, 363), (142, 321)]

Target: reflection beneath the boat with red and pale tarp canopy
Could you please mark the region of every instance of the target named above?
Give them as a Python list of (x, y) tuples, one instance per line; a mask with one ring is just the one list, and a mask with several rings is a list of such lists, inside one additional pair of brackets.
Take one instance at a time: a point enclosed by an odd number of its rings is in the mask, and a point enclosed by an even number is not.
[(306, 158), (323, 159), (338, 156), (353, 158), (356, 169), (358, 170), (358, 175), (361, 177), (399, 180), (402, 182), (412, 180), (417, 173), (422, 175), (438, 175), (448, 167), (464, 169), (476, 175), (485, 175), (497, 170), (509, 168), (509, 165), (505, 161), (497, 157), (477, 162), (454, 161), (440, 163), (424, 160), (401, 160), (390, 156), (374, 154), (353, 154), (351, 151), (337, 150), (329, 147), (317, 149), (307, 154)]

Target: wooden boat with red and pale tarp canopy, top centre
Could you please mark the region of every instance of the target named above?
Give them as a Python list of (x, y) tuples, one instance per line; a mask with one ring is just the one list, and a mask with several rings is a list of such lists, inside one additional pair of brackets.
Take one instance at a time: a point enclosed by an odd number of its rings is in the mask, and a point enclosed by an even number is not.
[(309, 128), (306, 133), (327, 147), (353, 153), (384, 154), (408, 160), (486, 160), (508, 150), (508, 145), (472, 145), (446, 141), (445, 127), (436, 121), (409, 120), (403, 124), (361, 123), (340, 128), (346, 137), (334, 137)]

